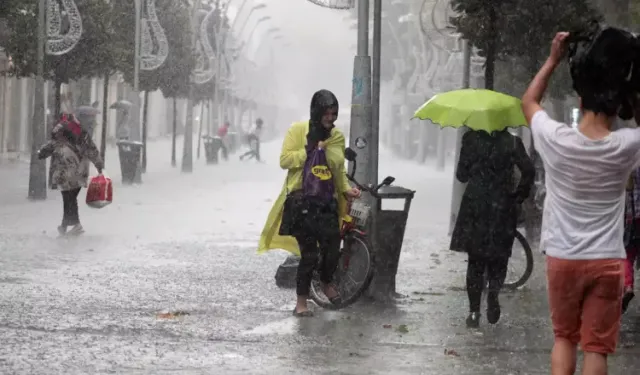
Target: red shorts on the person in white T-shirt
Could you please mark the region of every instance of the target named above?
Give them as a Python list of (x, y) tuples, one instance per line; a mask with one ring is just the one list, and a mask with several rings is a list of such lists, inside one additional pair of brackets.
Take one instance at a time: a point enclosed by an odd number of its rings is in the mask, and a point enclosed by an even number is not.
[(553, 333), (585, 352), (610, 354), (618, 344), (624, 264), (622, 259), (547, 257)]

